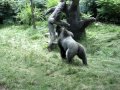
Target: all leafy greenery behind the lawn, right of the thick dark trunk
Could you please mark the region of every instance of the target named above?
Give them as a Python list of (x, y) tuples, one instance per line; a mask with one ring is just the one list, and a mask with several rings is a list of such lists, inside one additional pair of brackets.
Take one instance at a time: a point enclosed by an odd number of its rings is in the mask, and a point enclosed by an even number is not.
[(80, 9), (99, 21), (120, 24), (120, 0), (81, 0)]

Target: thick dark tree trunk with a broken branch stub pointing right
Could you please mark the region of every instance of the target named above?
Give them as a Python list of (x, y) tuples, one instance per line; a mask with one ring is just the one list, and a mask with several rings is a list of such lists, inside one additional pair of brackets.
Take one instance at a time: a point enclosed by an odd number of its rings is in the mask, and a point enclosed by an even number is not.
[[(60, 1), (66, 2), (66, 0), (60, 0)], [(83, 35), (86, 35), (85, 28), (89, 24), (93, 23), (96, 19), (90, 18), (90, 19), (81, 20), (80, 19), (80, 10), (79, 10), (79, 0), (70, 0), (70, 1), (71, 1), (70, 4), (64, 5), (64, 9), (62, 12), (64, 12), (66, 14), (67, 23), (70, 24), (70, 26), (66, 27), (66, 28), (74, 34), (75, 40), (79, 40), (80, 37), (82, 37)], [(54, 8), (54, 10), (52, 8), (52, 10), (49, 10), (48, 12), (50, 13), (52, 11), (55, 11), (56, 8)], [(59, 16), (59, 15), (56, 15), (56, 16)], [(56, 23), (56, 25), (57, 25), (57, 23)]]

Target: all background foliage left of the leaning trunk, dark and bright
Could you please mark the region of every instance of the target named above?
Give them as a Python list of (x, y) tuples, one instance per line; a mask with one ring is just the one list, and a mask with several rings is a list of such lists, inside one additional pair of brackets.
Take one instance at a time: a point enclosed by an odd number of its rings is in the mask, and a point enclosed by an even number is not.
[[(34, 0), (36, 20), (44, 20), (46, 0)], [(1, 19), (2, 17), (2, 19)], [(30, 24), (31, 8), (29, 0), (2, 0), (0, 1), (0, 21), (14, 19), (24, 24)], [(17, 18), (17, 20), (16, 20)]]

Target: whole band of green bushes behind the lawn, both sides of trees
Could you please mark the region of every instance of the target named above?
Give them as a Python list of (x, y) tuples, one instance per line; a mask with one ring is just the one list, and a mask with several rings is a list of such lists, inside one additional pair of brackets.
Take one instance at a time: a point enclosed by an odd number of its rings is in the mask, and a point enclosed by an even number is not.
[[(58, 0), (34, 0), (33, 3), (35, 5), (35, 20), (43, 21), (46, 8), (56, 6)], [(97, 15), (99, 21), (120, 24), (120, 0), (81, 0), (80, 8), (83, 13)], [(95, 8), (97, 12), (94, 11)], [(1, 0), (0, 24), (13, 22), (31, 24), (30, 9), (29, 0)]]

